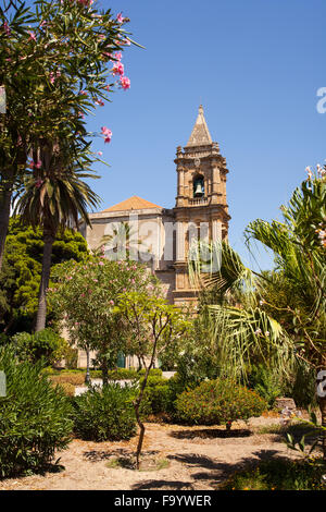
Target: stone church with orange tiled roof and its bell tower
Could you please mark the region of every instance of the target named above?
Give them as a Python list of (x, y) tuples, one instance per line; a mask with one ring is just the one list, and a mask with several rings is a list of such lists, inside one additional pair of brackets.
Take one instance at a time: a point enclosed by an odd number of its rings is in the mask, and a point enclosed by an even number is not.
[(102, 247), (106, 257), (146, 263), (163, 283), (172, 304), (196, 300), (188, 277), (187, 255), (192, 237), (226, 239), (226, 161), (212, 142), (202, 106), (187, 145), (177, 147), (176, 203), (172, 209), (138, 196), (91, 214), (91, 228), (80, 232), (90, 249)]

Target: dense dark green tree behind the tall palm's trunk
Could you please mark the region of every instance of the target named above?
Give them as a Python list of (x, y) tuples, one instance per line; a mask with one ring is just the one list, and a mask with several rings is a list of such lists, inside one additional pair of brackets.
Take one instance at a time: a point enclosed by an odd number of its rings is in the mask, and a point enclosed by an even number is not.
[[(20, 217), (12, 217), (0, 272), (0, 325), (9, 334), (20, 330), (30, 331), (33, 328), (42, 249), (41, 229), (22, 225)], [(52, 270), (55, 271), (55, 267), (63, 261), (82, 261), (88, 257), (87, 243), (80, 233), (71, 230), (58, 233), (53, 244)]]

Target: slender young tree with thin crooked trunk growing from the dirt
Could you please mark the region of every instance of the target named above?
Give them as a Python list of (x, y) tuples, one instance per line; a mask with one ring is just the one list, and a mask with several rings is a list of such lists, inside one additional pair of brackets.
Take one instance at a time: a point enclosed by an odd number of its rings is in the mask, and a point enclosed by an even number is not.
[(140, 417), (140, 405), (145, 395), (150, 369), (156, 357), (167, 349), (177, 349), (181, 337), (189, 329), (185, 314), (175, 306), (165, 303), (164, 298), (149, 295), (141, 291), (124, 293), (120, 297), (117, 313), (121, 313), (130, 328), (127, 350), (137, 354), (146, 369), (134, 406), (137, 423), (140, 428), (136, 467), (139, 468), (139, 458), (145, 436), (145, 425)]

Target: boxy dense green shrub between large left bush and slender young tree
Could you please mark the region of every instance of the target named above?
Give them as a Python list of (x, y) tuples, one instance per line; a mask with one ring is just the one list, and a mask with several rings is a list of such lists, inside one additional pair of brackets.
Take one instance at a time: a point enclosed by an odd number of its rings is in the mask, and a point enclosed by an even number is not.
[(136, 434), (135, 390), (118, 383), (90, 388), (75, 397), (74, 431), (85, 440), (120, 441)]

